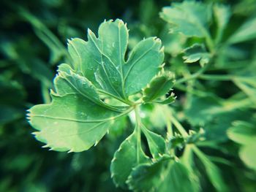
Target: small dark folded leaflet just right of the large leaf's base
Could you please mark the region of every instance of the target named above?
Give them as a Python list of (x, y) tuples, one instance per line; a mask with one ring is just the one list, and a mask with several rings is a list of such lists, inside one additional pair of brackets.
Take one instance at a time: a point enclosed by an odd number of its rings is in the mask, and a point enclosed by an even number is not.
[(162, 72), (157, 74), (153, 80), (143, 91), (143, 101), (150, 102), (165, 96), (173, 87), (173, 74), (170, 72)]

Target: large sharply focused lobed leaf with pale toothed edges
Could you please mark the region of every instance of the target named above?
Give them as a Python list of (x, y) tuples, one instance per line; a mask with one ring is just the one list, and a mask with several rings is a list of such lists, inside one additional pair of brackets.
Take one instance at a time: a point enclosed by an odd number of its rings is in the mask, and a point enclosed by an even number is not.
[[(59, 66), (52, 102), (29, 110), (36, 138), (52, 150), (78, 152), (96, 145), (127, 105), (110, 106), (99, 93), (124, 103), (144, 88), (162, 67), (164, 58), (159, 39), (143, 39), (127, 61), (128, 29), (122, 20), (105, 21), (97, 37), (88, 31), (88, 41), (72, 39), (68, 51), (72, 64)], [(138, 79), (139, 78), (139, 79)], [(127, 111), (126, 111), (127, 110)]]

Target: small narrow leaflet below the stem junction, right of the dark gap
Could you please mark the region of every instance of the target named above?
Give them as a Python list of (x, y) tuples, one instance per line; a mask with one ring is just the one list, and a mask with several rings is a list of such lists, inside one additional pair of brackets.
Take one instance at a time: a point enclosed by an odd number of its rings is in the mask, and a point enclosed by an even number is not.
[(159, 158), (165, 154), (165, 139), (143, 126), (143, 133), (146, 136), (148, 147), (153, 158)]

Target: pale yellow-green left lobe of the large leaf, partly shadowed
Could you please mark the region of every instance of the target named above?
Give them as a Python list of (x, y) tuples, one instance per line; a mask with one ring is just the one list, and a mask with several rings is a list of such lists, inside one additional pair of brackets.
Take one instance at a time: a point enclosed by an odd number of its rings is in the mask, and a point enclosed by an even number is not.
[[(60, 69), (68, 71), (68, 67)], [(105, 105), (94, 85), (71, 70), (59, 71), (54, 84), (53, 101), (29, 110), (31, 126), (38, 130), (36, 138), (52, 150), (88, 150), (102, 139), (120, 112)]]

